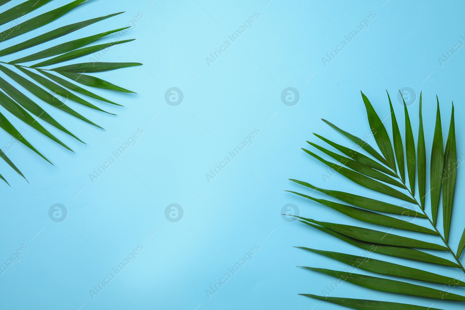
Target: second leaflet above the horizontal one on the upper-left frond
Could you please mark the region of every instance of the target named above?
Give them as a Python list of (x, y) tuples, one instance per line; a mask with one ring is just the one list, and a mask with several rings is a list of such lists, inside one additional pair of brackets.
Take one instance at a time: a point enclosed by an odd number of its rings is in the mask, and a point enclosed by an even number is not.
[[(117, 13), (117, 14), (120, 14), (120, 13)], [(114, 16), (114, 15), (115, 14), (108, 15), (108, 17)], [(105, 17), (105, 18), (108, 18), (108, 17)], [(18, 64), (20, 62), (28, 62), (28, 61), (33, 61), (33, 60), (38, 60), (38, 59), (42, 59), (42, 58), (55, 56), (55, 55), (62, 54), (62, 53), (67, 53), (67, 52), (75, 50), (76, 48), (80, 48), (80, 47), (85, 46), (85, 45), (87, 45), (89, 43), (92, 43), (95, 40), (99, 40), (99, 39), (101, 39), (103, 37), (106, 37), (109, 34), (112, 34), (112, 33), (115, 33), (115, 32), (120, 32), (120, 31), (123, 31), (123, 30), (125, 30), (127, 28), (129, 28), (129, 27), (115, 29), (115, 30), (112, 30), (112, 31), (104, 32), (104, 33), (94, 34), (94, 35), (91, 35), (91, 36), (86, 37), (86, 38), (81, 38), (81, 39), (72, 40), (72, 41), (69, 41), (69, 42), (66, 42), (66, 43), (61, 43), (59, 45), (49, 47), (49, 48), (47, 48), (47, 49), (45, 49), (43, 51), (33, 53), (32, 55), (21, 57), (21, 58), (15, 59), (13, 61), (10, 61), (9, 64)]]

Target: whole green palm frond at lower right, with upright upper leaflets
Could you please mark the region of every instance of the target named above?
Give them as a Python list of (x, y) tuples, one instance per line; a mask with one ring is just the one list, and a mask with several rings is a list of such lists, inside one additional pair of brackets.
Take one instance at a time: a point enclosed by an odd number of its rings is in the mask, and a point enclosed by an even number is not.
[[(465, 249), (465, 229), (460, 238), (457, 251), (452, 251), (452, 247), (449, 244), (450, 227), (452, 222), (452, 210), (454, 202), (455, 183), (457, 178), (457, 167), (459, 162), (457, 160), (457, 147), (455, 137), (455, 122), (454, 122), (454, 108), (452, 104), (451, 121), (449, 125), (449, 133), (445, 145), (443, 145), (442, 138), (442, 125), (441, 116), (439, 110), (439, 100), (437, 99), (437, 115), (436, 124), (434, 127), (434, 137), (432, 139), (431, 149), (431, 162), (430, 165), (430, 195), (431, 195), (431, 215), (425, 212), (425, 179), (426, 179), (426, 149), (425, 149), (425, 134), (423, 131), (423, 120), (422, 120), (422, 93), (420, 93), (419, 99), (419, 135), (417, 142), (417, 149), (415, 149), (415, 141), (413, 137), (412, 123), (407, 110), (405, 101), (404, 115), (405, 115), (405, 136), (399, 130), (399, 125), (395, 116), (394, 107), (392, 106), (391, 99), (388, 93), (389, 107), (391, 111), (392, 119), (392, 138), (389, 137), (382, 120), (371, 102), (362, 93), (362, 99), (365, 104), (367, 112), (368, 123), (372, 130), (372, 134), (375, 137), (376, 144), (381, 152), (378, 153), (371, 146), (369, 146), (362, 139), (345, 132), (336, 125), (325, 121), (332, 128), (342, 133), (345, 137), (359, 145), (359, 148), (363, 149), (367, 155), (355, 152), (352, 149), (334, 143), (333, 141), (323, 138), (318, 134), (315, 134), (319, 139), (326, 142), (328, 145), (334, 147), (337, 151), (343, 153), (340, 155), (336, 152), (329, 151), (328, 149), (317, 145), (313, 142), (307, 141), (310, 145), (325, 153), (336, 163), (326, 160), (314, 152), (303, 149), (306, 153), (312, 157), (318, 159), (332, 169), (333, 173), (339, 173), (345, 176), (352, 183), (361, 185), (365, 189), (374, 192), (382, 192), (391, 198), (397, 198), (412, 204), (410, 207), (403, 209), (399, 205), (389, 204), (385, 201), (376, 200), (373, 198), (356, 195), (354, 193), (348, 193), (343, 191), (322, 189), (318, 186), (310, 183), (290, 179), (291, 181), (305, 186), (304, 188), (312, 189), (310, 194), (300, 193), (297, 191), (289, 191), (300, 197), (309, 199), (319, 204), (325, 205), (335, 211), (338, 211), (346, 216), (357, 220), (357, 225), (349, 224), (336, 224), (330, 222), (324, 222), (317, 219), (306, 218), (302, 215), (296, 216), (299, 223), (306, 224), (306, 227), (311, 229), (318, 229), (329, 235), (339, 238), (340, 240), (357, 246), (365, 250), (365, 254), (351, 255), (346, 253), (340, 253), (336, 251), (319, 250), (304, 246), (299, 248), (307, 251), (317, 253), (326, 257), (330, 257), (350, 265), (350, 271), (338, 271), (326, 268), (315, 268), (315, 267), (304, 267), (309, 270), (318, 271), (332, 277), (336, 277), (338, 281), (346, 281), (352, 284), (359, 285), (365, 289), (380, 290), (389, 293), (404, 294), (413, 297), (424, 297), (424, 298), (435, 298), (438, 300), (450, 300), (457, 302), (465, 302), (465, 297), (458, 294), (459, 291), (452, 293), (450, 289), (454, 286), (465, 287), (465, 282), (462, 281), (464, 276), (459, 275), (456, 278), (443, 276), (434, 270), (429, 270), (421, 266), (419, 268), (410, 267), (406, 264), (392, 263), (384, 258), (384, 256), (398, 257), (405, 259), (412, 263), (422, 262), (428, 263), (429, 266), (447, 266), (461, 270), (465, 273), (464, 266), (460, 263), (459, 257)], [(402, 143), (405, 141), (405, 148)], [(393, 147), (392, 147), (393, 145)], [(406, 162), (406, 165), (404, 163)], [(396, 166), (397, 164), (397, 166)], [(387, 166), (387, 167), (386, 167)], [(398, 168), (398, 170), (396, 169)], [(406, 185), (405, 170), (407, 171), (408, 187)], [(399, 171), (399, 172), (398, 172)], [(418, 171), (418, 178), (415, 174)], [(418, 185), (419, 191), (418, 196), (415, 195), (415, 186)], [(396, 186), (399, 190), (394, 189), (392, 186)], [(319, 191), (330, 198), (338, 199), (345, 202), (341, 204), (336, 201), (320, 199), (312, 197), (313, 191)], [(407, 191), (404, 193), (403, 191)], [(439, 198), (443, 197), (443, 223), (442, 228), (444, 233), (440, 233), (437, 225)], [(307, 200), (308, 201), (308, 200)], [(413, 210), (419, 208), (420, 212)], [(404, 211), (402, 211), (404, 210)], [(390, 213), (392, 215), (381, 214)], [(404, 219), (395, 218), (395, 215), (403, 215)], [(418, 217), (425, 218), (426, 220), (415, 221), (409, 218)], [(436, 236), (428, 239), (431, 242), (420, 240), (417, 237), (406, 237), (402, 234), (393, 234), (391, 230), (382, 231), (373, 229), (372, 227), (366, 228), (360, 224), (369, 223), (378, 226), (383, 226), (391, 229), (399, 229), (402, 231), (414, 231), (431, 236)], [(418, 222), (418, 224), (417, 224)], [(459, 222), (460, 223), (460, 222)], [(384, 229), (385, 230), (385, 229)], [(425, 235), (423, 235), (425, 236)], [(457, 237), (458, 238), (458, 237)], [(418, 249), (425, 250), (438, 250), (448, 252), (454, 261), (420, 251)], [(372, 253), (377, 253), (376, 258), (372, 258)], [(356, 273), (357, 270), (365, 270), (367, 272), (388, 276), (397, 277), (398, 280), (384, 277), (374, 277), (365, 274)], [(415, 280), (424, 282), (425, 285), (412, 284), (405, 282), (404, 279)], [(438, 290), (435, 288), (428, 287), (427, 284), (442, 284), (446, 290)], [(393, 303), (384, 301), (373, 301), (367, 299), (351, 299), (342, 297), (329, 297), (333, 293), (330, 292), (326, 296), (318, 296), (313, 294), (300, 294), (308, 297), (326, 300), (332, 303), (337, 303), (353, 309), (393, 309), (393, 310), (427, 310), (432, 309), (422, 307), (413, 304), (404, 303)]]

